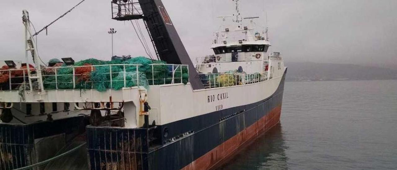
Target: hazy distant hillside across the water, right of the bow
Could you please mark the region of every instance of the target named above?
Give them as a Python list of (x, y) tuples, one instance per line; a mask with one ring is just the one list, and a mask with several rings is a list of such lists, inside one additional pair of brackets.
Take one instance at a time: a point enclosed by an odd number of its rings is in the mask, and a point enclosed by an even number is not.
[(287, 81), (397, 79), (397, 70), (354, 64), (286, 62)]

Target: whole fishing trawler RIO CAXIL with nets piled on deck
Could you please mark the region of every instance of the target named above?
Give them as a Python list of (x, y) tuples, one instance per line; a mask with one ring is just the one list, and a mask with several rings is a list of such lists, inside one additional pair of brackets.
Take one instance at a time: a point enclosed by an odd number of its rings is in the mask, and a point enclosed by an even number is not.
[(161, 0), (111, 2), (112, 19), (143, 20), (161, 62), (63, 58), (40, 66), (24, 11), (26, 62), (0, 70), (0, 170), (42, 165), (71, 141), (86, 145), (92, 170), (211, 169), (266, 133), (280, 120), (287, 68), (268, 51), (267, 28), (233, 1), (214, 54), (195, 64)]

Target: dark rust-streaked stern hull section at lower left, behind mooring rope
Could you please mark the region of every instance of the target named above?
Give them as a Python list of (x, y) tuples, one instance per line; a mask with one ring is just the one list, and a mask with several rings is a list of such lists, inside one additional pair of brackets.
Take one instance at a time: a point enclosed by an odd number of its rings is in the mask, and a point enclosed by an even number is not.
[(87, 124), (83, 116), (53, 122), (0, 124), (0, 170), (30, 166), (55, 156), (69, 141), (83, 134)]

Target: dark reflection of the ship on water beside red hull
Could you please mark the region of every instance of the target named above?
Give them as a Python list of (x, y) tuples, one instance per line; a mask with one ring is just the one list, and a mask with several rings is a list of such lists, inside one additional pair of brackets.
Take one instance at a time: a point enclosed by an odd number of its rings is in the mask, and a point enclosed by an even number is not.
[(281, 124), (277, 124), (265, 135), (240, 151), (220, 170), (277, 170), (288, 169), (285, 150), (288, 147), (283, 138)]

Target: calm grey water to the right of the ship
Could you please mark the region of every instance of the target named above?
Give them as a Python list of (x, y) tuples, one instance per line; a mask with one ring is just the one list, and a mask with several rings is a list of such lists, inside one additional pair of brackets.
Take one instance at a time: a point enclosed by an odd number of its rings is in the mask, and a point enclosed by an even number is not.
[(234, 169), (397, 169), (397, 81), (285, 83), (281, 124)]

